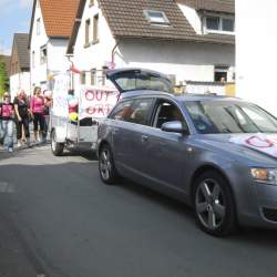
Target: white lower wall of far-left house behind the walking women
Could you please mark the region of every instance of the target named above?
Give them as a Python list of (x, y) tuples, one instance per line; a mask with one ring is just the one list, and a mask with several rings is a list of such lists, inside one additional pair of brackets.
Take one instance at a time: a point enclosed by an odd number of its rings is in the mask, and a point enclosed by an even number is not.
[(21, 72), (10, 76), (10, 92), (13, 99), (20, 90), (24, 90), (28, 95), (30, 91), (30, 72)]

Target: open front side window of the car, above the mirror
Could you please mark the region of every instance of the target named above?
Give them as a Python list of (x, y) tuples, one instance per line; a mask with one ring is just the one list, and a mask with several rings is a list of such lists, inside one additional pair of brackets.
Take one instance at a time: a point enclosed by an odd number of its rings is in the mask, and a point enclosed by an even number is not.
[(181, 121), (184, 126), (187, 127), (183, 114), (175, 104), (166, 100), (160, 101), (156, 105), (153, 126), (156, 129), (161, 129), (165, 122), (171, 121)]

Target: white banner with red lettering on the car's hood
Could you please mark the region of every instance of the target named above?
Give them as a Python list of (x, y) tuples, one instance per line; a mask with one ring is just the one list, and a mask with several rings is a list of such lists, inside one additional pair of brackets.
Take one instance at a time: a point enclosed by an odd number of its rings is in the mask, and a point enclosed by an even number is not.
[(246, 147), (263, 152), (277, 157), (277, 134), (266, 135), (261, 133), (252, 135), (237, 135), (230, 137), (229, 142), (244, 145)]

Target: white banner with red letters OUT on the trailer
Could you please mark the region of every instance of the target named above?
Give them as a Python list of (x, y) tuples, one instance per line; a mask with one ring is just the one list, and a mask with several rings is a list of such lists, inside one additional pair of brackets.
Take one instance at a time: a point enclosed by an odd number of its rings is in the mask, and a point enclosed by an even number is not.
[(103, 119), (119, 101), (119, 91), (114, 88), (85, 86), (81, 89), (79, 115), (84, 117)]

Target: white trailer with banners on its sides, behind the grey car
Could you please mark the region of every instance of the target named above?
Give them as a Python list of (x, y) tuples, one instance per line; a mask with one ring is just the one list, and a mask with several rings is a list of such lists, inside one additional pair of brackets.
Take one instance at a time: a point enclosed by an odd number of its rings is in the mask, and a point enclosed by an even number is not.
[(85, 146), (94, 150), (98, 126), (119, 100), (119, 91), (109, 85), (82, 86), (74, 93), (78, 99), (78, 120), (70, 119), (69, 90), (70, 75), (54, 76), (53, 106), (50, 116), (51, 150), (55, 156), (62, 155), (64, 147)]

